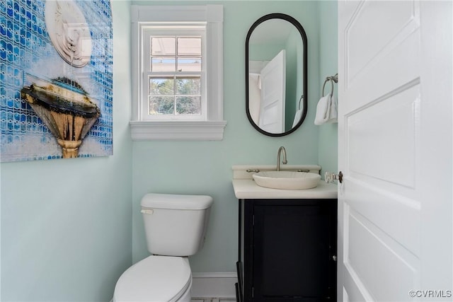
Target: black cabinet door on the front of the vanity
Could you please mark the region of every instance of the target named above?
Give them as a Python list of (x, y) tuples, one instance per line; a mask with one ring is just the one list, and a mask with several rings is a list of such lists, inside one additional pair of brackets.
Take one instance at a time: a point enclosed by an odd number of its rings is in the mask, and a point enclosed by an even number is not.
[(254, 301), (335, 301), (334, 255), (336, 202), (255, 205)]

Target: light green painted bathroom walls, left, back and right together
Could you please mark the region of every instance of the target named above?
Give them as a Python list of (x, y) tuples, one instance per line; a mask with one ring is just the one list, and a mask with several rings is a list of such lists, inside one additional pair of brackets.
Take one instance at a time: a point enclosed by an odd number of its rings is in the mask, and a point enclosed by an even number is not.
[[(336, 43), (327, 36), (336, 24), (335, 2), (213, 3), (224, 4), (224, 140), (130, 141), (131, 3), (113, 1), (114, 155), (0, 164), (1, 301), (109, 301), (120, 274), (148, 255), (139, 214), (147, 192), (212, 195), (205, 248), (190, 262), (193, 272), (234, 272), (237, 200), (231, 165), (275, 164), (278, 147), (285, 146), (290, 164), (336, 168), (336, 160), (330, 162), (336, 154), (326, 154), (336, 147), (336, 126), (313, 123), (323, 78), (336, 72)], [(256, 132), (245, 112), (246, 33), (256, 19), (274, 12), (297, 18), (309, 42), (306, 122), (279, 138)]]

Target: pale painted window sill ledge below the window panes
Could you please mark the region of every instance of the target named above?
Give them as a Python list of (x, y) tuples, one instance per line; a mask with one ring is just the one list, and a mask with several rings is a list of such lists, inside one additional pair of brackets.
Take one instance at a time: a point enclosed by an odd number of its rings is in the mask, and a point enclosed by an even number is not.
[(221, 141), (226, 121), (131, 121), (132, 141)]

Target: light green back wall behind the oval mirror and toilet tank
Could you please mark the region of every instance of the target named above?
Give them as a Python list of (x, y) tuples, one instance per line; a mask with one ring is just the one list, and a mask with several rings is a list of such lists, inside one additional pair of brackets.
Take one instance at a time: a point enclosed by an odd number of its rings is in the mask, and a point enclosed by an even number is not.
[[(138, 1), (137, 4), (206, 4), (193, 1)], [(216, 1), (215, 3), (219, 3)], [(231, 186), (234, 164), (275, 164), (285, 146), (290, 164), (318, 163), (314, 108), (319, 98), (319, 20), (316, 1), (224, 1), (224, 119), (222, 141), (133, 143), (132, 249), (134, 262), (147, 257), (139, 202), (147, 192), (210, 194), (214, 197), (205, 247), (190, 257), (193, 272), (234, 272), (238, 206)], [(267, 13), (287, 13), (304, 26), (309, 43), (309, 112), (286, 137), (266, 137), (245, 111), (245, 40), (248, 28)]]

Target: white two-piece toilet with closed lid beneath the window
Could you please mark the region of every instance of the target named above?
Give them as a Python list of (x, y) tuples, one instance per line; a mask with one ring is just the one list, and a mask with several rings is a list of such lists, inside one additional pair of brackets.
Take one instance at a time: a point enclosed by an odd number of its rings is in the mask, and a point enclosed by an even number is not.
[(121, 275), (113, 301), (190, 301), (188, 256), (205, 242), (212, 202), (212, 197), (205, 195), (144, 195), (142, 216), (152, 255)]

